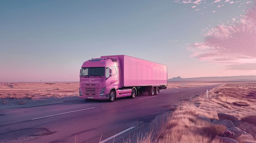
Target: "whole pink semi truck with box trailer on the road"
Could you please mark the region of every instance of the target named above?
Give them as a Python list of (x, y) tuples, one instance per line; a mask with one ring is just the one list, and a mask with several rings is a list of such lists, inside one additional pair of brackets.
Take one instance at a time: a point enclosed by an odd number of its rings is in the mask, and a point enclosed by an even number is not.
[(83, 63), (79, 97), (115, 101), (144, 92), (158, 95), (166, 86), (166, 65), (127, 55), (101, 56)]

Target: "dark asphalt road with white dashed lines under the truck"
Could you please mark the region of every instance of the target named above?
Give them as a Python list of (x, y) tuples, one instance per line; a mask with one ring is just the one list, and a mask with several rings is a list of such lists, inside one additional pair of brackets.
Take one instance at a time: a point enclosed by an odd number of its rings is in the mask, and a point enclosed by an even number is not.
[(161, 90), (114, 102), (77, 99), (0, 110), (0, 143), (122, 143), (149, 131), (171, 105), (217, 85)]

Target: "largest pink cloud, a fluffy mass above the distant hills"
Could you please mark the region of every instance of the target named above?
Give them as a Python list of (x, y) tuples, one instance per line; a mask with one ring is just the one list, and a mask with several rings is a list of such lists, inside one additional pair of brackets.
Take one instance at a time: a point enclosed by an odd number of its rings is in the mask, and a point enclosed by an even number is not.
[[(238, 20), (237, 20), (238, 21)], [(236, 19), (233, 19), (236, 22)], [(202, 61), (229, 63), (228, 68), (244, 68), (243, 64), (256, 63), (256, 0), (254, 7), (232, 25), (218, 25), (205, 35), (204, 42), (188, 44), (193, 57)]]

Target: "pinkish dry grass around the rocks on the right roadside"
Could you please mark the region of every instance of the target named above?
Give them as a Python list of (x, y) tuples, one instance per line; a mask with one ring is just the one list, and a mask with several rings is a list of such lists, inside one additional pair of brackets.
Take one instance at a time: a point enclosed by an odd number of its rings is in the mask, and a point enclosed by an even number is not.
[[(155, 121), (157, 137), (140, 143), (224, 143), (218, 136), (230, 137), (239, 143), (256, 142), (255, 93), (255, 83), (223, 84), (210, 90), (208, 99), (204, 93), (191, 101), (184, 101), (167, 119), (162, 119), (160, 123)], [(241, 120), (239, 128), (252, 134), (254, 139), (248, 135), (233, 136), (224, 125), (211, 123), (219, 120), (219, 112)]]

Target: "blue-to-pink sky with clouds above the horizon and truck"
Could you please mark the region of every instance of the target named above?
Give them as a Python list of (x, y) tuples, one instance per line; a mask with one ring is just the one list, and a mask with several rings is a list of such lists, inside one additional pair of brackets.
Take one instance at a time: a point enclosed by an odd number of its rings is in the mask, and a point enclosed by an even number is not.
[(101, 55), (256, 75), (256, 0), (0, 0), (0, 82), (79, 81)]

